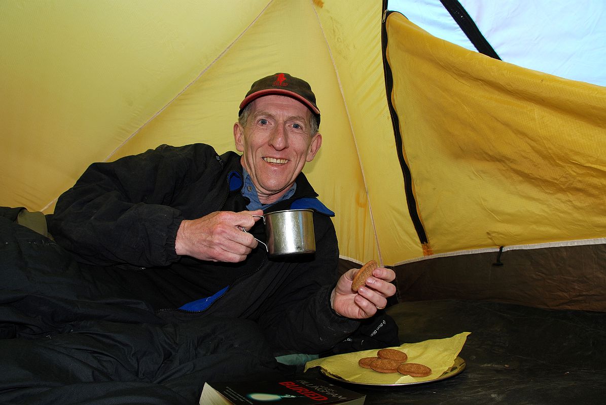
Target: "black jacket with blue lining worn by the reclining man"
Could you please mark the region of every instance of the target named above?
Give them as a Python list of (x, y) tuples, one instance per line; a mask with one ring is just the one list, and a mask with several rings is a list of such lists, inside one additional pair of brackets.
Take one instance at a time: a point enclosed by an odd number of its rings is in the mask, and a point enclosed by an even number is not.
[[(241, 263), (176, 254), (182, 220), (247, 209), (240, 189), (230, 189), (234, 176), (242, 178), (239, 154), (219, 156), (201, 143), (162, 145), (116, 162), (95, 163), (59, 198), (50, 231), (85, 269), (105, 277), (104, 282), (113, 280), (121, 291), (116, 294), (127, 291), (168, 321), (210, 314), (246, 318), (261, 326), (271, 346), (305, 353), (327, 350), (359, 326), (330, 308), (339, 253), (327, 215), (314, 212), (316, 253), (310, 257), (273, 260), (261, 244)], [(265, 212), (318, 196), (302, 173), (296, 182), (293, 197)], [(265, 240), (262, 223), (250, 232)], [(225, 286), (227, 292), (204, 311), (178, 309)]]

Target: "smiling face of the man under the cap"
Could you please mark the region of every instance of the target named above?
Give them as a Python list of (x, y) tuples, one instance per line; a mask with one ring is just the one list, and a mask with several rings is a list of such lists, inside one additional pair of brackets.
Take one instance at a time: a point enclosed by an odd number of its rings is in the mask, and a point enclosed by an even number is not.
[(311, 162), (322, 136), (310, 134), (311, 111), (295, 99), (270, 95), (251, 102), (246, 125), (233, 126), (242, 166), (250, 174), (262, 203), (282, 196), (305, 162)]

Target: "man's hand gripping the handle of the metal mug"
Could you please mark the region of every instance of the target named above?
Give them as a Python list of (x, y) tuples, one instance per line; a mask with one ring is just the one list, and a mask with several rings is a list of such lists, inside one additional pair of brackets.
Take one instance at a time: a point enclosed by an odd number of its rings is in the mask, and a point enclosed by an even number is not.
[(175, 251), (199, 260), (242, 262), (256, 248), (253, 235), (242, 232), (259, 220), (263, 211), (217, 211), (202, 218), (183, 220), (177, 231)]

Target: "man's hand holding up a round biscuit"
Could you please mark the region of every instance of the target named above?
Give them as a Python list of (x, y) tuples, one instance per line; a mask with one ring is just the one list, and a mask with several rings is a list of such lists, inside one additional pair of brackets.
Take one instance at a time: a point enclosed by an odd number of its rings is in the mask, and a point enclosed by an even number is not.
[(356, 292), (351, 289), (351, 282), (359, 269), (351, 269), (339, 278), (330, 296), (330, 303), (335, 312), (352, 319), (370, 318), (379, 308), (385, 308), (387, 298), (396, 293), (391, 284), (396, 278), (395, 272), (384, 267), (376, 268), (366, 285)]

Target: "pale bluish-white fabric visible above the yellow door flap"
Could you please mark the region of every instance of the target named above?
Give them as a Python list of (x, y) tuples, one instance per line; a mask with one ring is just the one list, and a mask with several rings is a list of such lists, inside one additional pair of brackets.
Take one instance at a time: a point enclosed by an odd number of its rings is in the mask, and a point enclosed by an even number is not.
[[(606, 86), (605, 1), (461, 0), (460, 3), (503, 61)], [(439, 0), (391, 0), (389, 8), (401, 12), (433, 36), (475, 50)]]

